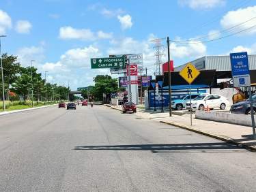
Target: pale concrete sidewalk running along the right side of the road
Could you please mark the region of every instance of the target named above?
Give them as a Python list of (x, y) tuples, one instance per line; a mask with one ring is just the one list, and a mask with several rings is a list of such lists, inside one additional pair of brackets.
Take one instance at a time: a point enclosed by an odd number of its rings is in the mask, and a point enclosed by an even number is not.
[[(122, 108), (115, 108), (113, 106), (111, 108), (122, 110)], [(169, 117), (169, 112), (160, 113), (137, 110), (136, 115), (138, 118), (152, 119), (256, 151), (256, 140), (253, 140), (253, 129), (251, 127), (195, 119), (195, 114), (193, 114), (192, 126), (190, 126), (190, 114)]]

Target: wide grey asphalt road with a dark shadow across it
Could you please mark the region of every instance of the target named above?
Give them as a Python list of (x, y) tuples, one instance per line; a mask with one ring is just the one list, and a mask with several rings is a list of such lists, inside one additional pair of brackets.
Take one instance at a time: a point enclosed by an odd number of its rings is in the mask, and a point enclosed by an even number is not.
[(256, 191), (256, 153), (104, 106), (0, 116), (0, 191)]

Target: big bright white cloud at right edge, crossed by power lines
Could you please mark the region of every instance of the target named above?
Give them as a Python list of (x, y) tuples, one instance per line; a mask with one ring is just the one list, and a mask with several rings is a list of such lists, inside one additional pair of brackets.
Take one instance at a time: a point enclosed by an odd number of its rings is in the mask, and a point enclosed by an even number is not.
[[(246, 7), (244, 9), (238, 9), (236, 11), (230, 11), (223, 16), (221, 19), (221, 26), (224, 29), (239, 25), (242, 22), (245, 22), (242, 25), (236, 27), (236, 31), (242, 31), (256, 25), (256, 5), (253, 7)], [(256, 27), (251, 30), (245, 31), (243, 34), (254, 34), (256, 33)]]

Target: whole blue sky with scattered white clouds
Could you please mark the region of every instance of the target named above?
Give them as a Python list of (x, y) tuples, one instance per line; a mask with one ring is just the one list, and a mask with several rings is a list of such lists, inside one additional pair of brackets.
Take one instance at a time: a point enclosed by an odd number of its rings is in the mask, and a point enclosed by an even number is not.
[[(48, 71), (48, 81), (54, 77), (67, 85), (69, 80), (72, 89), (92, 84), (96, 74), (109, 74), (91, 70), (91, 57), (143, 53), (153, 74), (156, 37), (177, 41), (170, 46), (175, 66), (204, 55), (254, 54), (254, 17), (253, 0), (0, 1), (0, 33), (8, 35), (3, 52), (18, 55), (24, 66), (35, 59), (39, 71)], [(226, 35), (231, 36), (215, 40)]]

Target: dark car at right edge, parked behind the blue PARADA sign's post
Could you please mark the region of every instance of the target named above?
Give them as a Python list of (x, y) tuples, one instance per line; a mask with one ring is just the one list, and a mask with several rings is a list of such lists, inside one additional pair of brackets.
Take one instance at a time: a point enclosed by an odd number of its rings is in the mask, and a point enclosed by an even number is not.
[[(256, 95), (253, 95), (253, 110), (256, 112)], [(231, 113), (235, 114), (251, 114), (251, 102), (249, 99), (235, 103), (230, 108)]]

